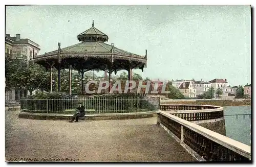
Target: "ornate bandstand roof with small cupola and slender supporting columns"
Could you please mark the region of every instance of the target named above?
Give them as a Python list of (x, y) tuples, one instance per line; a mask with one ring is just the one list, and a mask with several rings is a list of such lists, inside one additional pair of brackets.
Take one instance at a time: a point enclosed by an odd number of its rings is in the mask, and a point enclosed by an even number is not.
[[(132, 69), (146, 67), (147, 51), (145, 56), (136, 55), (107, 44), (109, 37), (94, 27), (77, 35), (80, 41), (77, 44), (62, 48), (58, 42), (58, 50), (34, 57), (34, 62), (51, 70), (50, 83), (52, 83), (52, 69), (58, 70), (58, 91), (60, 91), (60, 70), (69, 69), (69, 94), (71, 95), (71, 70), (77, 70), (82, 78), (82, 94), (84, 94), (84, 73), (90, 70), (103, 70), (104, 80), (111, 80), (111, 74), (119, 70), (128, 71), (128, 79), (132, 80)], [(109, 74), (109, 76), (108, 76)], [(51, 91), (52, 91), (52, 84)]]

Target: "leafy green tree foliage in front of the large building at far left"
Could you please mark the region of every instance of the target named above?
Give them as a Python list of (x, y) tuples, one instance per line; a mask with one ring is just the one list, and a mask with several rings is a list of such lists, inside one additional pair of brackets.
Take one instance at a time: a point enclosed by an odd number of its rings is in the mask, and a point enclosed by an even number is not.
[[(25, 87), (32, 91), (46, 86), (49, 74), (33, 61), (6, 58), (6, 85), (8, 88)], [(10, 83), (11, 82), (11, 83)]]

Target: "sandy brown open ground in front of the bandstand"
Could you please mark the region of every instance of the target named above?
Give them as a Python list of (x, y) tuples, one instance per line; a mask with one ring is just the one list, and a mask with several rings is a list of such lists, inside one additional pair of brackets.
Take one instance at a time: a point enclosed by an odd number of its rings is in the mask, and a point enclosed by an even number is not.
[(156, 117), (68, 123), (28, 120), (17, 114), (18, 111), (6, 111), (7, 161), (196, 161), (163, 128), (156, 126)]

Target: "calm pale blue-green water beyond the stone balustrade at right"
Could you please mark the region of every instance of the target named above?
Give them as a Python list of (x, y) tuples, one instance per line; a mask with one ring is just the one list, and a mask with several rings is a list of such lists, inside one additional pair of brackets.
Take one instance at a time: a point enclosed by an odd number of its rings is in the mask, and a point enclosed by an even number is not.
[[(234, 114), (251, 114), (251, 106), (226, 106), (224, 108), (226, 136), (243, 144), (250, 146), (250, 115), (234, 115)], [(234, 116), (233, 116), (234, 115)]]

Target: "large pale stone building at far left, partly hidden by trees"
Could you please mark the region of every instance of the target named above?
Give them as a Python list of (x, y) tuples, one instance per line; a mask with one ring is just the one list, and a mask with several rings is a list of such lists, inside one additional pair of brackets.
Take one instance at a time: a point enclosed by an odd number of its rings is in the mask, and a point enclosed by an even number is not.
[[(20, 34), (11, 37), (6, 34), (5, 37), (5, 56), (12, 59), (32, 60), (33, 54), (36, 56), (40, 51), (39, 44), (27, 38), (20, 38)], [(6, 103), (17, 102), (20, 98), (26, 97), (28, 91), (26, 89), (13, 89), (5, 92)]]

